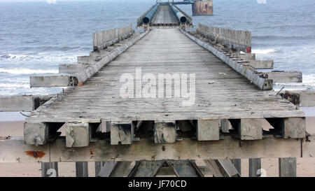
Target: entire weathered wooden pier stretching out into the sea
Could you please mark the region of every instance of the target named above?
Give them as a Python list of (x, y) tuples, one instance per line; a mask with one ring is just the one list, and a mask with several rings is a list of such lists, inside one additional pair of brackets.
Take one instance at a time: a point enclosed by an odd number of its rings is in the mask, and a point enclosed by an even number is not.
[(273, 90), (279, 80), (302, 82), (302, 73), (258, 71), (274, 63), (255, 60), (250, 31), (203, 24), (186, 31), (191, 17), (172, 3), (155, 4), (137, 24), (143, 31), (95, 32), (78, 64), (30, 77), (31, 87), (64, 92), (0, 98), (0, 111), (32, 111), (24, 137), (1, 137), (0, 162), (56, 171), (57, 162), (76, 162), (77, 176), (95, 162), (96, 176), (156, 176), (169, 167), (175, 176), (204, 176), (206, 168), (235, 177), (239, 159), (258, 176), (260, 158), (279, 158), (279, 176), (296, 176), (296, 157), (315, 154), (300, 102)]

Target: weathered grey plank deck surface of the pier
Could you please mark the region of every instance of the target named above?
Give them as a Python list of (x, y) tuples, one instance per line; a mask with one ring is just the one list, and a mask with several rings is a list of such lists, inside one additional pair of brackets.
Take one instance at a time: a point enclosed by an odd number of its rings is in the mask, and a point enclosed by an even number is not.
[[(142, 76), (153, 73), (156, 78), (158, 73), (195, 73), (195, 104), (183, 106), (187, 98), (120, 97), (125, 84), (120, 76), (130, 73), (135, 79), (136, 68), (141, 68)], [(304, 117), (304, 113), (276, 92), (258, 90), (179, 29), (153, 29), (82, 87), (34, 111), (27, 122), (286, 117)]]

